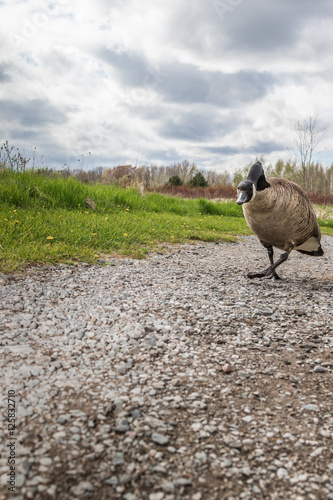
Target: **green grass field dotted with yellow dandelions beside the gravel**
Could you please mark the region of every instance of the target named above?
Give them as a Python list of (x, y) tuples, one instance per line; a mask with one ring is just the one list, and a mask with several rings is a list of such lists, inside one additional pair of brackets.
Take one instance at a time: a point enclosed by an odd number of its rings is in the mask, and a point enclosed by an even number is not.
[[(235, 202), (184, 200), (34, 172), (0, 172), (0, 271), (93, 263), (103, 254), (144, 257), (162, 243), (235, 241), (251, 234)], [(87, 208), (85, 200), (96, 203)], [(333, 221), (320, 219), (333, 234)]]

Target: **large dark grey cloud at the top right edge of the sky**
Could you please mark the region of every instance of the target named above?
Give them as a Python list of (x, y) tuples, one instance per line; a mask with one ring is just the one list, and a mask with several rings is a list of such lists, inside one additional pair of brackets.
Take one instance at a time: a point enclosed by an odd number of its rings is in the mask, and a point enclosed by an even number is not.
[(203, 3), (192, 0), (174, 12), (174, 36), (195, 53), (210, 53), (223, 59), (226, 51), (237, 53), (290, 50), (305, 23), (333, 16), (330, 0), (264, 2), (226, 0)]

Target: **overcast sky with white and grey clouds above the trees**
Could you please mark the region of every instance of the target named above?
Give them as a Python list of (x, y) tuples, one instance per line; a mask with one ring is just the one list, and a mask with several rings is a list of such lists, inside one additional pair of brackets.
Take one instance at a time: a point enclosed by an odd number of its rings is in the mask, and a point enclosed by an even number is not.
[[(331, 0), (0, 0), (0, 140), (84, 168), (333, 161)], [(80, 159), (80, 162), (78, 160)]]

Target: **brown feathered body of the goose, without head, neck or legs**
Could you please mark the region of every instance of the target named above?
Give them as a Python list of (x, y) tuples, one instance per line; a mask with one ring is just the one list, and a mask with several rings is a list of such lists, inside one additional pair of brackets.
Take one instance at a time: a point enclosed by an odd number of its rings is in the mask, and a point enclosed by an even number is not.
[(312, 254), (320, 249), (321, 233), (308, 196), (285, 179), (267, 179), (270, 187), (256, 191), (243, 204), (245, 219), (264, 246)]

